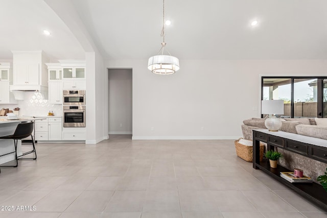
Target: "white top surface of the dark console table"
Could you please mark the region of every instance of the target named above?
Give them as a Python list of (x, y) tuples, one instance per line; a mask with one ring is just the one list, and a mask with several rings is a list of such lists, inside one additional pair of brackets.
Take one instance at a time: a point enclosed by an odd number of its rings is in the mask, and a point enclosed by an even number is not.
[(283, 132), (283, 131), (270, 132), (268, 130), (263, 130), (263, 129), (255, 129), (253, 131), (263, 132), (263, 133), (267, 133), (272, 136), (279, 136), (279, 137), (291, 139), (294, 141), (300, 141), (303, 143), (314, 144), (315, 146), (327, 148), (327, 140), (321, 139), (321, 138), (314, 138), (314, 137), (310, 137), (310, 136), (299, 135), (299, 134)]

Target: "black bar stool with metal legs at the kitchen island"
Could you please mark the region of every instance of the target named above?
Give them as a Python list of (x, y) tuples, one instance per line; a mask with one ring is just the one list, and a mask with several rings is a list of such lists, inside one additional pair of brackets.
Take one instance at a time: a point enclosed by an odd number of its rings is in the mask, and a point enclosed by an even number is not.
[[(21, 124), (17, 125), (16, 130), (15, 130), (13, 135), (6, 135), (6, 136), (1, 136), (0, 137), (0, 139), (13, 139), (14, 140), (15, 151), (11, 152), (11, 153), (8, 153), (8, 154), (15, 153), (16, 165), (11, 165), (11, 166), (17, 167), (18, 166), (18, 159), (26, 159), (26, 160), (35, 160), (36, 159), (35, 144), (34, 144), (34, 140), (33, 140), (33, 136), (32, 136), (33, 128), (34, 128), (34, 123), (33, 122), (31, 122), (31, 123), (21, 123)], [(29, 152), (25, 152), (20, 156), (17, 156), (17, 143), (18, 143), (18, 140), (27, 138), (29, 136), (32, 137), (33, 150), (29, 151)], [(35, 154), (35, 158), (19, 158), (21, 156), (31, 154), (31, 153)], [(4, 154), (4, 155), (8, 155), (8, 154)], [(1, 156), (4, 156), (4, 155), (1, 155)], [(6, 166), (8, 166), (8, 165), (6, 165)]]

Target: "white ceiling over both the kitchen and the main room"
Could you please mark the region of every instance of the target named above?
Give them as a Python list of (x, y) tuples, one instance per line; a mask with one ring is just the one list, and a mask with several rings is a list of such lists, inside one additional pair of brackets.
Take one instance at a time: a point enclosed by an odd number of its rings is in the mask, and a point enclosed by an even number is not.
[[(10, 50), (40, 49), (57, 59), (84, 58), (73, 34), (42, 0), (1, 2), (0, 59), (11, 56)], [(162, 0), (72, 2), (104, 58), (146, 59), (160, 49)], [(165, 2), (172, 21), (167, 49), (180, 59), (327, 59), (325, 0)], [(254, 19), (259, 25), (251, 27)], [(51, 37), (40, 34), (44, 28)]]

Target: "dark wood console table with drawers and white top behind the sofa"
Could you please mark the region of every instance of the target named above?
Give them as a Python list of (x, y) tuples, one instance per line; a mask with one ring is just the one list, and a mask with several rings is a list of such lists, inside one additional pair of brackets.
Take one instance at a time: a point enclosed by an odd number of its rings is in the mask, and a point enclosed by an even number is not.
[(260, 141), (267, 143), (268, 150), (274, 150), (275, 147), (300, 154), (327, 163), (327, 140), (313, 138), (287, 132), (269, 132), (268, 130), (253, 130), (253, 168), (262, 169), (274, 179), (282, 182), (291, 189), (295, 190), (301, 196), (309, 199), (327, 211), (327, 192), (318, 183), (291, 183), (280, 176), (281, 172), (292, 172), (293, 169), (287, 169), (281, 165), (277, 168), (271, 168), (269, 161), (264, 159), (260, 162)]

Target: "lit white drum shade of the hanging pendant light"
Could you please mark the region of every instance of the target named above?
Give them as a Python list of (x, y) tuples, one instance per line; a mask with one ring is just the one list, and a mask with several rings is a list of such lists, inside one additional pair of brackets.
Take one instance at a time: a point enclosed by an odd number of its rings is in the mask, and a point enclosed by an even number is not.
[(174, 74), (179, 70), (179, 60), (170, 55), (155, 55), (149, 58), (148, 69), (154, 74)]

